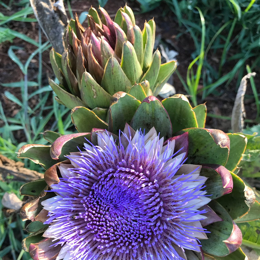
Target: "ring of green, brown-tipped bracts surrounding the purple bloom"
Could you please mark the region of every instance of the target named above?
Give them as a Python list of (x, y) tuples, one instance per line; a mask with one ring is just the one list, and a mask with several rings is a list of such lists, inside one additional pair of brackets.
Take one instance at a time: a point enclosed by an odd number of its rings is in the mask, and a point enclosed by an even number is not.
[[(203, 189), (211, 201), (205, 205), (207, 219), (203, 225), (210, 233), (207, 233), (208, 239), (200, 240), (205, 259), (245, 259), (239, 248), (242, 234), (235, 223), (256, 220), (260, 204), (254, 204), (254, 193), (232, 171), (244, 153), (247, 138), (242, 134), (205, 129), (205, 104), (192, 108), (181, 94), (160, 102), (154, 96), (146, 96), (146, 90), (146, 84), (137, 84), (130, 92), (138, 93), (135, 97), (126, 92), (117, 92), (112, 95), (107, 108), (91, 111), (77, 106), (73, 108), (71, 118), (79, 133), (60, 136), (47, 131), (44, 132), (44, 138), (50, 145), (30, 144), (18, 151), (18, 157), (29, 158), (46, 169), (44, 179), (27, 183), (21, 188), (22, 194), (32, 196), (34, 187), (37, 196), (21, 210), (23, 220), (33, 221), (27, 227), (32, 234), (23, 240), (23, 249), (29, 251), (34, 259), (40, 257), (42, 250), (46, 259), (55, 259), (55, 253), (48, 246), (48, 239), (51, 238), (42, 237), (48, 228), (48, 225), (42, 224), (47, 219), (48, 211), (42, 209), (41, 202), (55, 196), (54, 192), (45, 191), (52, 184), (60, 182), (58, 166), (69, 163), (64, 161), (64, 156), (83, 149), (86, 139), (97, 145), (98, 133), (105, 132), (102, 129), (118, 140), (119, 131), (126, 128), (133, 133), (139, 129), (147, 133), (152, 127), (164, 140), (174, 140), (177, 151), (183, 148), (187, 156), (183, 168), (190, 167), (190, 164), (201, 165), (200, 175), (207, 177)], [(185, 253), (189, 260), (201, 260), (201, 256), (192, 250)]]

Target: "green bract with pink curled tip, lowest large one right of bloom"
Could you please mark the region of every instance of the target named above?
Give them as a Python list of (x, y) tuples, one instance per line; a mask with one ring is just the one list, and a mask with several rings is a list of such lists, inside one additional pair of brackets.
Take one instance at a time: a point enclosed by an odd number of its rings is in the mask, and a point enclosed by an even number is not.
[[(229, 214), (216, 200), (208, 206), (223, 220), (206, 226), (208, 239), (201, 239), (202, 250), (214, 256), (225, 256), (239, 248), (241, 233)], [(230, 241), (230, 239), (232, 239)], [(229, 248), (229, 249), (228, 249)]]

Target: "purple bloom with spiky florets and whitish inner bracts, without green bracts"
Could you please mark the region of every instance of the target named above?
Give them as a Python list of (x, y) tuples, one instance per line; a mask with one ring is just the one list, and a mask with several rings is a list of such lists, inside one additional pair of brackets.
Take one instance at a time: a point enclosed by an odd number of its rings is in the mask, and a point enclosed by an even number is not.
[(59, 164), (57, 196), (42, 202), (50, 224), (43, 236), (61, 247), (57, 260), (183, 260), (186, 250), (200, 252), (210, 201), (201, 166), (183, 164), (185, 149), (154, 128), (128, 129), (119, 140), (97, 135), (97, 146), (86, 143)]

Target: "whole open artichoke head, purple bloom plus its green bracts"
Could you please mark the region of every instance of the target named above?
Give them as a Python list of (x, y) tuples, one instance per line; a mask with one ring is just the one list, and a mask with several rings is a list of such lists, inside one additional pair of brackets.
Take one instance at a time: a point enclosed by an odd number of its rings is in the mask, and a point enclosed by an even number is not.
[(33, 259), (245, 259), (236, 223), (260, 207), (232, 172), (245, 136), (205, 129), (205, 104), (179, 94), (117, 92), (107, 129), (89, 130), (86, 109), (72, 111), (78, 133), (46, 131), (50, 145), (18, 152), (46, 169), (21, 187)]

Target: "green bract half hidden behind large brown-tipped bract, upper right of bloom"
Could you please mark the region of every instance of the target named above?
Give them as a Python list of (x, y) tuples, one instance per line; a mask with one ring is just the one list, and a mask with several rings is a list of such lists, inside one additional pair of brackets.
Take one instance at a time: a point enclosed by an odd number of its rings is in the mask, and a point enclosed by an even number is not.
[(234, 171), (246, 149), (247, 139), (244, 135), (236, 133), (228, 133), (227, 135), (230, 140), (230, 151), (225, 167), (230, 171)]

